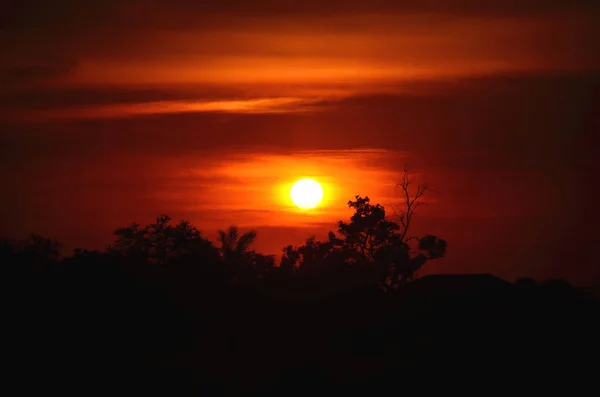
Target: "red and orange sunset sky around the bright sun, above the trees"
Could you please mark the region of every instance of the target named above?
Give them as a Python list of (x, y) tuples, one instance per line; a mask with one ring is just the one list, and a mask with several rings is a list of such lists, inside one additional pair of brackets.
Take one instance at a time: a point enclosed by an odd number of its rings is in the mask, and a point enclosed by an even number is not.
[(167, 213), (279, 253), (397, 202), (408, 162), (436, 190), (415, 233), (449, 244), (429, 271), (600, 276), (597, 5), (321, 3), (9, 2), (0, 234), (101, 248)]

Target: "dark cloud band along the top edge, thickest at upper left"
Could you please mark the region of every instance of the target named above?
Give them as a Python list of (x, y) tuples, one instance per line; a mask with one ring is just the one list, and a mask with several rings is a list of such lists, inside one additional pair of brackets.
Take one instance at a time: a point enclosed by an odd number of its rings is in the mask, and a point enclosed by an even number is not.
[[(4, 5), (7, 4), (7, 5)], [(11, 0), (3, 3), (0, 45), (10, 53), (30, 47), (60, 53), (65, 48), (80, 51), (122, 47), (131, 34), (153, 30), (236, 29), (253, 20), (266, 21), (323, 19), (367, 14), (424, 14), (431, 16), (535, 16), (600, 10), (593, 0)], [(335, 23), (334, 23), (335, 22)], [(373, 21), (371, 21), (373, 22)], [(376, 22), (376, 21), (375, 21)], [(356, 20), (342, 23), (351, 29)], [(433, 22), (432, 22), (433, 23)], [(137, 38), (139, 40), (139, 38)], [(0, 58), (1, 59), (1, 58)]]

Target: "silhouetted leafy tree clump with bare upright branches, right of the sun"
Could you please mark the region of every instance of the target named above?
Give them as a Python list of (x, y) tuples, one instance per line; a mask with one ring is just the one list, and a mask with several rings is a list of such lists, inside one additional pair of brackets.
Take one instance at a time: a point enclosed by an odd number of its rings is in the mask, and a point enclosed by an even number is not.
[[(339, 237), (330, 232), (326, 241), (311, 237), (297, 249), (286, 247), (282, 264), (298, 263), (304, 274), (323, 274), (335, 269), (340, 276), (368, 265), (383, 289), (412, 280), (427, 261), (446, 253), (446, 241), (436, 236), (407, 237), (415, 209), (423, 204), (419, 200), (428, 189), (426, 184), (419, 184), (411, 194), (412, 183), (405, 168), (398, 184), (403, 189), (404, 201), (404, 208), (396, 212), (400, 224), (387, 218), (382, 205), (357, 195), (348, 202), (354, 210), (350, 221), (338, 223)], [(409, 246), (412, 240), (417, 241), (415, 249)]]

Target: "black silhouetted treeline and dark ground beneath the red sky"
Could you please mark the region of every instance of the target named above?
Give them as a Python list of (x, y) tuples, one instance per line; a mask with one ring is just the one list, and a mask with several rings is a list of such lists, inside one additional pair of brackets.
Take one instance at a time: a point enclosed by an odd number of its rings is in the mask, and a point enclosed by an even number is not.
[(415, 278), (446, 252), (443, 239), (407, 234), (425, 189), (406, 195), (398, 223), (357, 196), (337, 233), (280, 260), (251, 249), (252, 231), (232, 226), (213, 243), (167, 216), (67, 257), (41, 236), (3, 239), (4, 375), (48, 391), (228, 395), (595, 375), (596, 291)]

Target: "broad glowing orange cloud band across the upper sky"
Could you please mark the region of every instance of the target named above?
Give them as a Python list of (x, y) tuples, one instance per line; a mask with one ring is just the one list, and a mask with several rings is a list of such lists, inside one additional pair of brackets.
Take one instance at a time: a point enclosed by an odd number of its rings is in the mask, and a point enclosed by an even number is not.
[[(596, 18), (597, 19), (597, 18)], [(81, 50), (69, 85), (349, 84), (586, 69), (581, 15), (341, 15), (130, 32)], [(235, 23), (233, 23), (235, 22)], [(552, 45), (549, 45), (552, 43)]]

